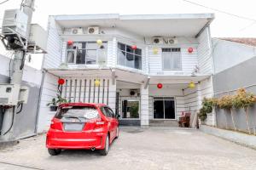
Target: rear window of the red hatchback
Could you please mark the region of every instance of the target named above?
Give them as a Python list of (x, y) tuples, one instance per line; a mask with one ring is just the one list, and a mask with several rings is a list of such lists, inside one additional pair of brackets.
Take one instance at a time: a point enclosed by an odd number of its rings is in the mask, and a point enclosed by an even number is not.
[(94, 119), (98, 116), (98, 111), (91, 106), (65, 106), (57, 111), (55, 115), (59, 119), (63, 116), (78, 116), (85, 119)]

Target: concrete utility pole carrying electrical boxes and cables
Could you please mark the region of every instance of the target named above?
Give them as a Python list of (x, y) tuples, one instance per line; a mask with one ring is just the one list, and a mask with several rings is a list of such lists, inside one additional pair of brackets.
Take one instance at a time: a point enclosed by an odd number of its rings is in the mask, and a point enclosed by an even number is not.
[[(32, 13), (34, 11), (35, 0), (25, 0), (25, 3), (21, 4), (23, 12), (28, 16), (26, 26), (26, 43), (29, 41), (30, 28), (32, 21)], [(11, 84), (20, 85), (22, 82), (22, 75), (25, 65), (26, 49), (15, 49), (15, 58), (11, 67)], [(3, 126), (1, 130), (0, 141), (9, 142), (15, 141), (15, 123), (16, 123), (16, 111), (17, 105), (7, 108), (3, 116)]]

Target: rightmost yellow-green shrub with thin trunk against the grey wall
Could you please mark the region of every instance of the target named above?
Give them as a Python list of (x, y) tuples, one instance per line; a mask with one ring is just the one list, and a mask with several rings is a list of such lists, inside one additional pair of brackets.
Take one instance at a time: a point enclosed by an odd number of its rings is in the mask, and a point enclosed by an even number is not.
[[(256, 103), (256, 97), (252, 93), (247, 93), (244, 88), (237, 90), (236, 95), (234, 95), (232, 99), (232, 105), (236, 109), (242, 108), (246, 114), (246, 121), (247, 121), (247, 129), (249, 134), (251, 134), (251, 129), (248, 122), (248, 107), (252, 106)], [(255, 134), (255, 129), (254, 129)]]

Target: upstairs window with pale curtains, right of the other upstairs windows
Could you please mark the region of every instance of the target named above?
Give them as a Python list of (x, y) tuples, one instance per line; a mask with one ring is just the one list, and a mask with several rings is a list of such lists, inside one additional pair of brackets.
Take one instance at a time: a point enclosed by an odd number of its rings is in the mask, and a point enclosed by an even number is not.
[(181, 70), (180, 48), (162, 48), (163, 70)]

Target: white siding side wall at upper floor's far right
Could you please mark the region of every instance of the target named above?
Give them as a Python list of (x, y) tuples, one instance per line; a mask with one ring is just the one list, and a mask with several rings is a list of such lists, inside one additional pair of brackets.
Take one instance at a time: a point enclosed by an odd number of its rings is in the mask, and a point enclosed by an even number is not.
[(197, 51), (200, 73), (212, 74), (212, 42), (208, 27), (201, 32), (201, 35), (197, 39), (199, 42)]

